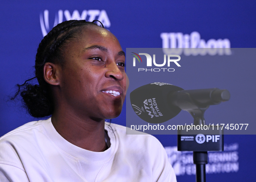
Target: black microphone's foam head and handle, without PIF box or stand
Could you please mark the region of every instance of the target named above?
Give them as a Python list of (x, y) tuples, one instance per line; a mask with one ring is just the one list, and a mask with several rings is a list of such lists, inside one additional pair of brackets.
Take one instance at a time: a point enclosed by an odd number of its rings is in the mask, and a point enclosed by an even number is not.
[(149, 123), (162, 123), (177, 116), (181, 110), (189, 112), (198, 108), (207, 109), (210, 105), (229, 99), (230, 93), (227, 90), (184, 90), (161, 82), (143, 85), (130, 93), (134, 112)]

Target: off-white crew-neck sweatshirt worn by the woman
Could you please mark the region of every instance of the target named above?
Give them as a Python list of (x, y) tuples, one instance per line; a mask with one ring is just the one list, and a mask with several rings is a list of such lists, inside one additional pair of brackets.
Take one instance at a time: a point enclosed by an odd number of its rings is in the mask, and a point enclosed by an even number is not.
[(93, 152), (62, 138), (51, 118), (26, 123), (0, 138), (0, 182), (176, 182), (155, 137), (105, 130), (110, 147)]

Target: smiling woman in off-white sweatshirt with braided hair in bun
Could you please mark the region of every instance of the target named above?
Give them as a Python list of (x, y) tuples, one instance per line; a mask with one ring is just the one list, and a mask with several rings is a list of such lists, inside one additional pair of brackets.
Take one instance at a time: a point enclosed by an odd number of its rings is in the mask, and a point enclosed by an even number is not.
[(105, 122), (122, 110), (124, 66), (125, 53), (106, 29), (85, 20), (55, 26), (36, 54), (39, 86), (24, 84), (21, 92), (32, 116), (52, 117), (0, 138), (0, 181), (176, 181), (156, 138)]

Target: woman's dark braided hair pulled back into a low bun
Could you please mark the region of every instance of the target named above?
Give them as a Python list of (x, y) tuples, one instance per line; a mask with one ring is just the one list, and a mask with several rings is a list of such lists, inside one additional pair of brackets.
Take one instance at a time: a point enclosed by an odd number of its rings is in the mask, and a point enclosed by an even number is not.
[[(17, 84), (18, 90), (11, 100), (14, 100), (20, 93), (23, 97), (23, 104), (33, 117), (50, 116), (54, 110), (54, 103), (49, 84), (45, 82), (43, 69), (45, 63), (58, 63), (64, 66), (65, 60), (62, 59), (63, 47), (72, 38), (75, 38), (83, 26), (96, 25), (94, 22), (86, 22), (85, 20), (69, 20), (56, 25), (42, 39), (36, 53), (35, 77), (26, 80), (22, 85)], [(99, 21), (98, 21), (99, 22)], [(102, 25), (102, 23), (100, 22)], [(104, 28), (104, 26), (102, 25)], [(37, 78), (39, 85), (27, 83)]]

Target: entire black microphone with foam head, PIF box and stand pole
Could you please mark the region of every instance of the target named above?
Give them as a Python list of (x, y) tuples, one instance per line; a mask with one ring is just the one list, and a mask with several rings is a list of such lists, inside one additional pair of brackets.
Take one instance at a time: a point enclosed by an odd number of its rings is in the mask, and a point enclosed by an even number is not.
[[(218, 88), (184, 90), (160, 82), (143, 85), (130, 93), (133, 110), (144, 121), (162, 123), (178, 115), (181, 110), (185, 110), (194, 118), (194, 126), (205, 126), (204, 112), (210, 105), (220, 104), (229, 99), (230, 93), (227, 90)], [(178, 130), (178, 151), (193, 151), (196, 182), (206, 181), (207, 151), (223, 151), (223, 131), (214, 127), (212, 125), (212, 130), (206, 131), (190, 130), (190, 133), (183, 129)], [(204, 135), (215, 138), (215, 142), (212, 144), (204, 142)], [(181, 136), (190, 136), (195, 140), (185, 141)], [(204, 141), (197, 141), (198, 138), (199, 140), (204, 138)]]

